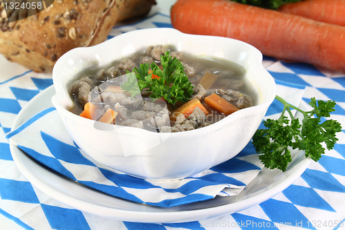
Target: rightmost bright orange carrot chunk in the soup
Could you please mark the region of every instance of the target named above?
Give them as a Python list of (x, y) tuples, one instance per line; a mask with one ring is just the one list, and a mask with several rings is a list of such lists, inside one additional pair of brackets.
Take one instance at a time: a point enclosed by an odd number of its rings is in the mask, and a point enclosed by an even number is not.
[(226, 99), (219, 97), (219, 95), (215, 93), (205, 97), (204, 102), (210, 106), (210, 108), (213, 108), (221, 114), (230, 115), (231, 113), (239, 111), (239, 108), (226, 101)]

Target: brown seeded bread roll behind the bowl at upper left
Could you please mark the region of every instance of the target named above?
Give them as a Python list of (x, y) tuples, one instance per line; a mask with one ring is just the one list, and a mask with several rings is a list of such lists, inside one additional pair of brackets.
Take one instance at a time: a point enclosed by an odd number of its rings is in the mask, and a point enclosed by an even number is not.
[(36, 15), (9, 23), (2, 1), (0, 53), (35, 72), (51, 72), (68, 50), (105, 41), (115, 23), (146, 15), (155, 4), (155, 0), (55, 0)]

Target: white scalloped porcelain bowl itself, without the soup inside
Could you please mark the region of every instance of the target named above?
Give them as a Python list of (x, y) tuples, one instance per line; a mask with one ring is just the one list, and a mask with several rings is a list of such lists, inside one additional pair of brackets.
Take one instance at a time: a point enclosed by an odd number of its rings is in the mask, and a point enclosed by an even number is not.
[[(107, 66), (157, 44), (241, 64), (246, 69), (244, 79), (258, 95), (257, 105), (181, 133), (103, 124), (70, 112), (74, 103), (67, 86), (79, 71), (95, 62)], [(97, 46), (70, 50), (55, 64), (52, 79), (57, 92), (52, 103), (75, 143), (110, 169), (148, 180), (186, 178), (234, 157), (253, 137), (275, 98), (275, 82), (262, 66), (259, 50), (235, 39), (187, 35), (170, 28), (135, 30)]]

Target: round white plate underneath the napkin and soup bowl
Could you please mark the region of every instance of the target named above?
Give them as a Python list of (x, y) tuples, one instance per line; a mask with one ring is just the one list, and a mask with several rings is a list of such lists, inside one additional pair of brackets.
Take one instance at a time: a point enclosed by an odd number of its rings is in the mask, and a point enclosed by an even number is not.
[[(28, 102), (15, 119), (12, 130), (26, 122), (32, 115), (52, 107), (50, 99), (54, 94), (55, 88), (50, 86)], [(304, 103), (301, 107), (305, 108), (306, 104)], [(103, 217), (131, 222), (156, 223), (204, 220), (241, 211), (264, 202), (292, 184), (306, 170), (311, 161), (304, 156), (304, 152), (294, 151), (293, 162), (284, 173), (279, 170), (264, 169), (239, 195), (216, 197), (204, 202), (161, 208), (122, 200), (90, 189), (48, 169), (14, 144), (10, 144), (10, 150), (21, 173), (34, 186), (55, 200), (72, 208)]]

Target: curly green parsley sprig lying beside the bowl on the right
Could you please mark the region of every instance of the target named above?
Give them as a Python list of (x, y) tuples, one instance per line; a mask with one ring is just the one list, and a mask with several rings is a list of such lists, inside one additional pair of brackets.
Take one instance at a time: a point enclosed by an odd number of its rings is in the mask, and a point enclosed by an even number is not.
[[(328, 150), (334, 147), (338, 140), (335, 135), (342, 131), (342, 126), (333, 119), (322, 122), (323, 117), (330, 117), (330, 113), (335, 111), (334, 101), (316, 101), (313, 97), (309, 103), (313, 110), (306, 112), (288, 104), (282, 97), (275, 98), (284, 105), (282, 115), (276, 120), (264, 121), (266, 128), (258, 129), (253, 136), (255, 150), (267, 168), (286, 171), (291, 162), (289, 147), (304, 151), (306, 157), (311, 157), (315, 162), (324, 154), (322, 143), (326, 144)], [(293, 117), (290, 108), (302, 113), (302, 124), (298, 118)], [(284, 115), (285, 111), (291, 120)]]

